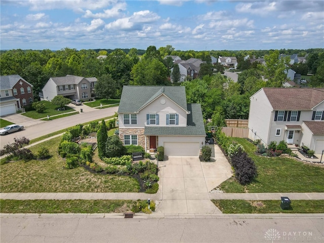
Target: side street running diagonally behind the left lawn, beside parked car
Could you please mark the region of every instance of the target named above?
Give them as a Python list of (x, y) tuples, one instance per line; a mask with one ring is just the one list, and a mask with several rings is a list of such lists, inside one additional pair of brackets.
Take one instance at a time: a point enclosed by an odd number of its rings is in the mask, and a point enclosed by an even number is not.
[(1, 148), (3, 148), (8, 143), (14, 142), (14, 138), (25, 137), (31, 140), (65, 128), (75, 126), (77, 124), (88, 123), (92, 120), (111, 116), (117, 110), (118, 107), (116, 106), (105, 109), (93, 109), (59, 119), (28, 121), (25, 124), (20, 124), (25, 126), (25, 129), (23, 131), (8, 134), (6, 136), (1, 136)]

